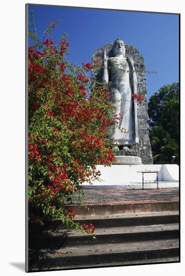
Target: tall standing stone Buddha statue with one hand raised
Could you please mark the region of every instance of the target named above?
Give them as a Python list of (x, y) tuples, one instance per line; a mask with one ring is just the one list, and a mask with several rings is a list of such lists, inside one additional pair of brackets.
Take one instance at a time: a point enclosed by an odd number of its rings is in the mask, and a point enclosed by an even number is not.
[(133, 59), (125, 56), (125, 45), (121, 39), (115, 40), (112, 56), (107, 57), (104, 48), (103, 67), (102, 81), (110, 82), (109, 92), (117, 117), (110, 139), (117, 145), (138, 144), (137, 103), (132, 97), (133, 93), (137, 93), (137, 78)]

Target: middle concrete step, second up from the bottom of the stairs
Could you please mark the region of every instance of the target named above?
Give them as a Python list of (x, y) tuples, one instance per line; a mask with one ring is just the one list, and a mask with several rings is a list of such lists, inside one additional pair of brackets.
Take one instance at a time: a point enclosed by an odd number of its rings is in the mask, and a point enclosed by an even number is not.
[(32, 249), (57, 249), (66, 245), (116, 243), (125, 241), (157, 240), (162, 238), (178, 238), (178, 223), (118, 226), (96, 229), (96, 239), (87, 233), (76, 232), (75, 229), (49, 230), (32, 233), (29, 247)]

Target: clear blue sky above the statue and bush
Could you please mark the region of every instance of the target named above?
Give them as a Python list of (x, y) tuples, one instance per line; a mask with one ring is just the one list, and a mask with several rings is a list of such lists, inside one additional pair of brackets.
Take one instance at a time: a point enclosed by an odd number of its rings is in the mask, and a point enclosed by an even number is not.
[(53, 31), (53, 40), (58, 43), (64, 33), (68, 34), (68, 57), (74, 63), (91, 62), (96, 49), (121, 38), (138, 49), (146, 70), (157, 71), (146, 73), (147, 99), (162, 85), (178, 82), (178, 15), (44, 5), (29, 5), (29, 12), (31, 9), (41, 40), (48, 21), (61, 20)]

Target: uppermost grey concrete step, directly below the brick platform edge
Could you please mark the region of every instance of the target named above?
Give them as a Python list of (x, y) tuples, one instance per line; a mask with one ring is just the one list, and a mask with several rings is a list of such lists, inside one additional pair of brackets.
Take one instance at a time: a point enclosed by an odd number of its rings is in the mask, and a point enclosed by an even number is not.
[[(133, 225), (150, 225), (150, 224), (166, 224), (178, 223), (178, 211), (154, 212), (154, 213), (137, 213), (137, 214), (111, 214), (101, 216), (76, 216), (75, 222), (80, 224), (92, 223), (96, 228), (117, 226), (133, 226)], [(60, 219), (46, 219), (43, 226), (37, 224), (31, 226), (34, 231), (61, 230), (67, 229), (67, 226)]]

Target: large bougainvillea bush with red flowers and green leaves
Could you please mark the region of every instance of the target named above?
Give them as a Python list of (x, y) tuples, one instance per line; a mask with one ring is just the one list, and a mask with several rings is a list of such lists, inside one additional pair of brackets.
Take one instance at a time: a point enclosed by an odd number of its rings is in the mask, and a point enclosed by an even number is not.
[(92, 224), (74, 221), (71, 206), (76, 194), (80, 203), (80, 184), (99, 179), (96, 164), (115, 161), (107, 139), (112, 106), (107, 87), (92, 85), (87, 75), (101, 62), (70, 63), (67, 37), (52, 40), (57, 23), (49, 22), (43, 42), (34, 25), (29, 32), (29, 219), (60, 218), (95, 235)]

